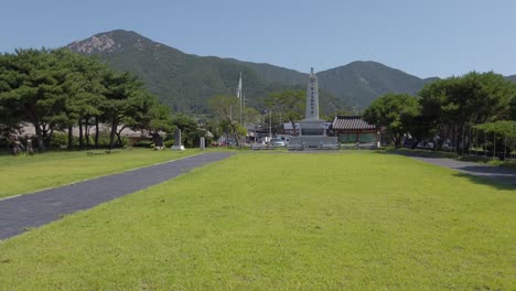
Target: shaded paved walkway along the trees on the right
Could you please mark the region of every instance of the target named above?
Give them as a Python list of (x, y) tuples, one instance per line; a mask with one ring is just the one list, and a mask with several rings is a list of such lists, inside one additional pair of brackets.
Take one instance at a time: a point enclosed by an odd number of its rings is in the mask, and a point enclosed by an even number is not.
[(458, 161), (454, 159), (430, 157), (429, 154), (419, 152), (399, 151), (396, 153), (411, 157), (427, 163), (450, 168), (469, 175), (492, 179), (504, 185), (516, 186), (516, 171), (513, 169), (475, 162)]

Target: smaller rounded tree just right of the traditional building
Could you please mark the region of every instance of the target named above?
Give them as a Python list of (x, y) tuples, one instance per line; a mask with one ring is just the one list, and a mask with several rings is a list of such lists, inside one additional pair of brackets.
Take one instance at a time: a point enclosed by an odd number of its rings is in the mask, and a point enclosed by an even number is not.
[(419, 114), (418, 100), (407, 94), (387, 94), (374, 100), (364, 111), (364, 120), (385, 127), (397, 148), (401, 147), (410, 121)]

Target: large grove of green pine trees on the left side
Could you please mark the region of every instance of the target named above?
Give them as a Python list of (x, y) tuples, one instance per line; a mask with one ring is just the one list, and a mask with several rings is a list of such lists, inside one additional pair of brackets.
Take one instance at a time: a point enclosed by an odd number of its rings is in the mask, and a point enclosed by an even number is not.
[[(172, 130), (171, 112), (129, 73), (68, 50), (18, 50), (0, 55), (0, 137), (22, 121), (34, 126), (37, 147), (53, 146), (55, 130), (80, 128), (92, 120), (111, 126), (109, 147), (122, 146), (121, 130)], [(84, 139), (78, 139), (84, 147)], [(61, 144), (61, 141), (57, 141)], [(97, 140), (95, 140), (97, 143)], [(73, 142), (68, 142), (72, 149)], [(95, 146), (99, 146), (98, 143)]]

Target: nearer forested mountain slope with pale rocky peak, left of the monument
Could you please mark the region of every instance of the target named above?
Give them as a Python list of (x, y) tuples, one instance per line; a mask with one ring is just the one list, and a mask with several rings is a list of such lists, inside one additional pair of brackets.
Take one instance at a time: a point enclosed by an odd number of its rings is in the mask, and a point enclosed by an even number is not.
[(97, 55), (116, 69), (135, 73), (163, 104), (176, 111), (203, 112), (207, 98), (234, 94), (232, 88), (237, 86), (239, 72), (246, 76), (247, 95), (267, 90), (267, 84), (246, 66), (185, 54), (135, 32), (100, 33), (68, 47)]

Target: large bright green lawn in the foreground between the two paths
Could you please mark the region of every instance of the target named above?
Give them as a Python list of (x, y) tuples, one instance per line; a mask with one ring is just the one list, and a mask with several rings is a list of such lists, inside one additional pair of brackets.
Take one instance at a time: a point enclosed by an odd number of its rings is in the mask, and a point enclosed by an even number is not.
[(515, 209), (409, 158), (241, 153), (0, 242), (0, 290), (515, 290)]

